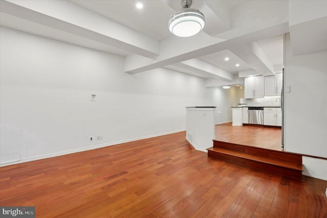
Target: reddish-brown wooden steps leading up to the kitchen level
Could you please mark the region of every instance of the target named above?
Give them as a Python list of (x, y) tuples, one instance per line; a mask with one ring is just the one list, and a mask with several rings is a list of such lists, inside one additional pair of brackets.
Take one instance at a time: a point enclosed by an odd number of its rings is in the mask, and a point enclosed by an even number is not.
[(208, 157), (292, 179), (300, 180), (302, 177), (303, 165), (301, 155), (216, 140), (214, 140), (214, 147), (207, 150)]

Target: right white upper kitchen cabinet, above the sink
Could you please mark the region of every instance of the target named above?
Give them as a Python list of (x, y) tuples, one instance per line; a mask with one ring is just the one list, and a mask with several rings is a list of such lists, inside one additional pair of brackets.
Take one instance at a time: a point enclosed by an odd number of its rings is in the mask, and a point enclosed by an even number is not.
[(276, 73), (274, 76), (265, 76), (265, 96), (280, 96), (282, 93), (282, 86), (282, 73)]

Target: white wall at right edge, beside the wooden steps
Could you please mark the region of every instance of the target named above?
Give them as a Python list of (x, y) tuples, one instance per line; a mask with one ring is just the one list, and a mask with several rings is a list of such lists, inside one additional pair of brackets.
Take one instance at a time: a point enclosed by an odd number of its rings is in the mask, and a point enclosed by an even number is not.
[[(327, 51), (293, 56), (286, 35), (285, 150), (327, 158)], [(327, 161), (303, 158), (303, 174), (327, 180)]]

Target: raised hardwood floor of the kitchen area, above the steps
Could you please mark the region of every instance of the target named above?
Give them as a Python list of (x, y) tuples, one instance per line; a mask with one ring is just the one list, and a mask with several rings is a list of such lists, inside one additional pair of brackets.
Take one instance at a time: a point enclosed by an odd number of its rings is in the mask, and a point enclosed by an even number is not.
[(282, 129), (262, 126), (232, 126), (231, 123), (216, 125), (216, 140), (241, 145), (282, 149)]

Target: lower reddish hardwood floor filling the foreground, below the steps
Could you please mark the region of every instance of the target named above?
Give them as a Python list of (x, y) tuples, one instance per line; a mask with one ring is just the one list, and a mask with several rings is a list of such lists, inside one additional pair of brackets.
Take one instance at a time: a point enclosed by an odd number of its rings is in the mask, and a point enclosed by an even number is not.
[(207, 158), (185, 132), (0, 168), (0, 205), (36, 217), (327, 217), (326, 187)]

